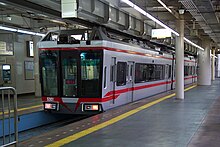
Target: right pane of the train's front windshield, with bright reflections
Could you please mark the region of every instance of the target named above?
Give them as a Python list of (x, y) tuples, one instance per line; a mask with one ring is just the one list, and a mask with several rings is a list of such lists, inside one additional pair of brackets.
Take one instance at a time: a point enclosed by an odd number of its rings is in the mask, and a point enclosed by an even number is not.
[(100, 96), (101, 52), (84, 51), (81, 57), (81, 80), (83, 97)]

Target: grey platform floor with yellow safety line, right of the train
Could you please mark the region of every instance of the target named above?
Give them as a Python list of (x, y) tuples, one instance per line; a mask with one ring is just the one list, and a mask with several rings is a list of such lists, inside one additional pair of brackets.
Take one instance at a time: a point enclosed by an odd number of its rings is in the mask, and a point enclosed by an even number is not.
[(220, 145), (220, 79), (163, 93), (69, 124), (19, 146), (184, 147)]

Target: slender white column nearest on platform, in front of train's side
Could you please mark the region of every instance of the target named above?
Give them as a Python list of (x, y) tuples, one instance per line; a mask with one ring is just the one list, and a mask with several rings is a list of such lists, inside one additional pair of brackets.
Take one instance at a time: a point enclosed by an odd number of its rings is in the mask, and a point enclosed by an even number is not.
[(184, 99), (184, 20), (179, 20), (179, 37), (176, 37), (176, 98)]

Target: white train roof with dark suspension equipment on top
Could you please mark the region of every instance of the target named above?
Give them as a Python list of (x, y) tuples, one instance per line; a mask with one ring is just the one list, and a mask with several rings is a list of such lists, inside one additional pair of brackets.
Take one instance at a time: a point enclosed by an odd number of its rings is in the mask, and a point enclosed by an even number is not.
[(50, 31), (41, 39), (38, 46), (39, 48), (103, 46), (155, 55), (172, 55), (175, 53), (175, 48), (171, 46), (152, 42), (147, 39), (131, 38), (131, 36), (124, 36), (124, 34), (108, 32), (101, 27)]

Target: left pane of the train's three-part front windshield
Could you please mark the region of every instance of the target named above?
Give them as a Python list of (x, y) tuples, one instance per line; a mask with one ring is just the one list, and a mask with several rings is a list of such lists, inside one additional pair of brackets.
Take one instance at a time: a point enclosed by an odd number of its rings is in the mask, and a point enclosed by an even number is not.
[(43, 52), (40, 55), (44, 96), (58, 95), (57, 57), (56, 51)]

